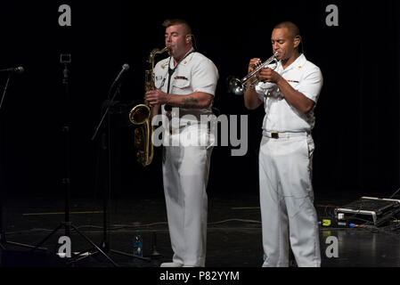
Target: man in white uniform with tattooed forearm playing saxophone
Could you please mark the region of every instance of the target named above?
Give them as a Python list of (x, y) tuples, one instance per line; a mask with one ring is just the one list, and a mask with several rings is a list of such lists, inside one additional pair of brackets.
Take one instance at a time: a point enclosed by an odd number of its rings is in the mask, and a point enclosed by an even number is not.
[(178, 118), (180, 122), (169, 126), (163, 122), (168, 134), (164, 141), (171, 143), (164, 145), (162, 170), (174, 256), (161, 267), (202, 267), (206, 261), (206, 189), (214, 140), (208, 123), (200, 121), (200, 116), (212, 114), (218, 70), (207, 57), (194, 51), (192, 31), (185, 20), (166, 20), (163, 26), (170, 56), (156, 64), (158, 89), (147, 92), (146, 100), (154, 106), (155, 114), (160, 107), (165, 118)]

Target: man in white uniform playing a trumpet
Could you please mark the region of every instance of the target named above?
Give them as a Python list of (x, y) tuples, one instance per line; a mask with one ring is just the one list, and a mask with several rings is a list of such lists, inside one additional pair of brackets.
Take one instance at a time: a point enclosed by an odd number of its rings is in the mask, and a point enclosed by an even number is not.
[[(247, 84), (244, 103), (254, 110), (264, 102), (259, 151), (259, 185), (265, 261), (289, 266), (290, 246), (299, 267), (321, 266), (319, 228), (314, 208), (312, 159), (314, 107), (322, 89), (321, 70), (298, 52), (298, 27), (273, 28), (275, 69), (261, 69), (258, 83)], [(249, 72), (257, 58), (249, 61)]]

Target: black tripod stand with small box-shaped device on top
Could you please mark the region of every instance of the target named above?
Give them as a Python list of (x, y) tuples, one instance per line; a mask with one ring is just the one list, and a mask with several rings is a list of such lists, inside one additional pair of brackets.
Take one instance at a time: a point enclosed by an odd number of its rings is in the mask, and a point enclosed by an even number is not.
[[(64, 126), (62, 126), (62, 133), (64, 134), (64, 178), (62, 178), (62, 185), (65, 191), (65, 216), (64, 216), (64, 222), (61, 222), (61, 224), (56, 227), (53, 232), (51, 232), (48, 236), (45, 237), (44, 240), (40, 241), (35, 248), (32, 249), (32, 251), (35, 251), (37, 248), (39, 248), (41, 245), (45, 243), (46, 240), (48, 240), (55, 232), (58, 232), (62, 227), (65, 229), (65, 236), (70, 238), (70, 230), (74, 230), (75, 232), (78, 232), (78, 234), (84, 238), (88, 243), (90, 243), (94, 248), (96, 248), (97, 252), (100, 252), (102, 256), (106, 257), (108, 261), (114, 266), (118, 266), (111, 258), (110, 256), (107, 256), (101, 248), (96, 246), (92, 240), (90, 240), (86, 235), (78, 230), (78, 228), (72, 224), (69, 220), (69, 199), (70, 199), (70, 134), (69, 134), (69, 125), (70, 125), (70, 104), (69, 104), (69, 63), (70, 63), (70, 54), (61, 54), (61, 64), (64, 64), (64, 69), (63, 69), (63, 78), (62, 78), (62, 84), (65, 87), (65, 98), (64, 98), (64, 116), (63, 119), (64, 121)], [(72, 264), (75, 262), (78, 262), (79, 260), (82, 259), (81, 256), (91, 256), (90, 252), (86, 252), (86, 254), (74, 254), (74, 257), (77, 256), (77, 259), (70, 259), (67, 264)]]

